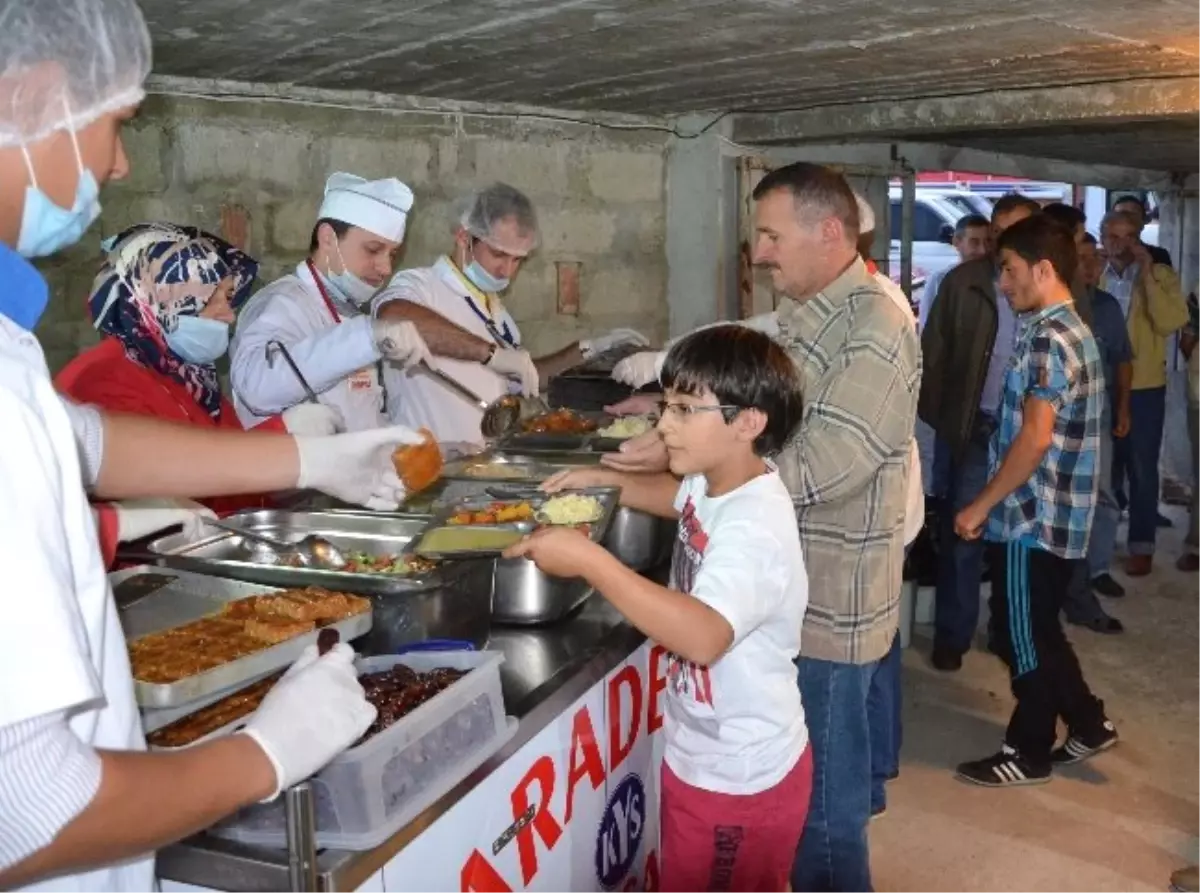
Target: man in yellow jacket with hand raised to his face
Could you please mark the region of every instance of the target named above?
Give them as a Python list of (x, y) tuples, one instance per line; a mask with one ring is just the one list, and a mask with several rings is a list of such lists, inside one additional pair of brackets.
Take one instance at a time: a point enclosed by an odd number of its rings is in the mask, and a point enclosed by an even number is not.
[(1158, 457), (1166, 420), (1166, 338), (1188, 322), (1180, 277), (1170, 266), (1154, 263), (1138, 238), (1140, 232), (1138, 218), (1124, 211), (1109, 211), (1100, 224), (1109, 257), (1100, 288), (1121, 305), (1133, 346), (1129, 436), (1118, 438), (1115, 448), (1116, 463), (1129, 477), (1129, 576), (1146, 576), (1153, 565)]

